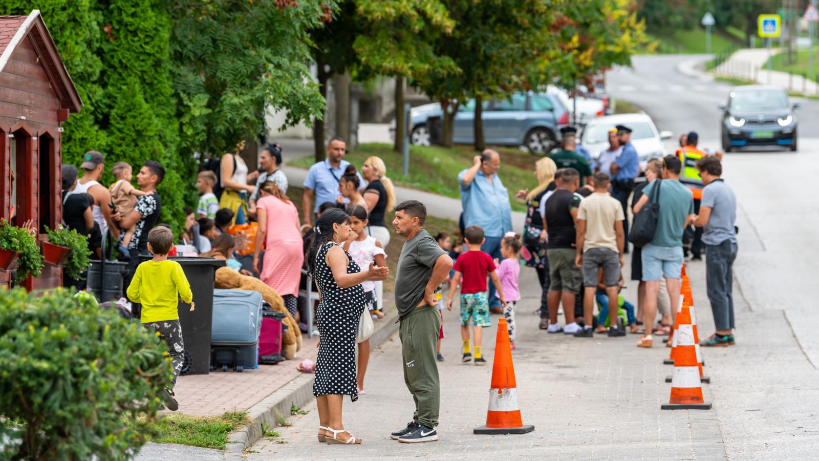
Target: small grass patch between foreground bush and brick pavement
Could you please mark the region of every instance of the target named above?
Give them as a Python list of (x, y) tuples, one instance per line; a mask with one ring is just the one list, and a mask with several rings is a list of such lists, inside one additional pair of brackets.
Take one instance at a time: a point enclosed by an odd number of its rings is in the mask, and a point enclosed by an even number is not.
[[(139, 418), (144, 421), (145, 417)], [(173, 413), (154, 423), (160, 435), (150, 441), (224, 450), (229, 432), (249, 422), (247, 412), (225, 412), (220, 416)]]

